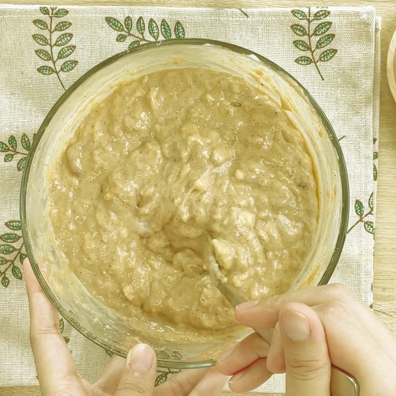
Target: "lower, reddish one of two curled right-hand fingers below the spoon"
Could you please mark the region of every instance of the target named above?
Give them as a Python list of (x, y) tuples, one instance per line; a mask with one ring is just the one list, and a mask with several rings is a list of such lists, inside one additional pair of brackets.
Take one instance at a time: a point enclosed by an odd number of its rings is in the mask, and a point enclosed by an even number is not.
[(259, 387), (272, 373), (267, 370), (266, 358), (260, 358), (243, 371), (235, 374), (229, 381), (230, 389), (235, 393), (245, 393)]

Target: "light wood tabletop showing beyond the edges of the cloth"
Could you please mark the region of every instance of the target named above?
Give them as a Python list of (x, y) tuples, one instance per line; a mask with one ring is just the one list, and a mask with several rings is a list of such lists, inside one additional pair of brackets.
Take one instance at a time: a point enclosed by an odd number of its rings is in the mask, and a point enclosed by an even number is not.
[[(0, 0), (1, 1), (1, 0)], [(2, 0), (6, 4), (56, 4), (51, 0)], [(374, 310), (396, 336), (396, 105), (386, 76), (387, 54), (396, 30), (396, 0), (63, 0), (66, 5), (158, 5), (247, 8), (270, 6), (374, 5), (382, 17), (381, 102), (377, 218), (374, 263)], [(396, 74), (396, 72), (395, 72)], [(1, 375), (1, 373), (0, 373)], [(0, 388), (0, 396), (39, 396), (37, 387)], [(228, 395), (228, 393), (225, 393)], [(257, 395), (257, 394), (254, 394)], [(275, 395), (274, 395), (275, 396)]]

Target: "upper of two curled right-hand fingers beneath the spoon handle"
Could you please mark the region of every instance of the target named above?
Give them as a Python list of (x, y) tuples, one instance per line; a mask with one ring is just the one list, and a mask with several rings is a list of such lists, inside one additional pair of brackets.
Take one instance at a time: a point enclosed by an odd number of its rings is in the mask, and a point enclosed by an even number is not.
[(221, 374), (234, 375), (261, 357), (267, 357), (268, 344), (257, 333), (248, 335), (235, 347), (219, 356), (216, 367)]

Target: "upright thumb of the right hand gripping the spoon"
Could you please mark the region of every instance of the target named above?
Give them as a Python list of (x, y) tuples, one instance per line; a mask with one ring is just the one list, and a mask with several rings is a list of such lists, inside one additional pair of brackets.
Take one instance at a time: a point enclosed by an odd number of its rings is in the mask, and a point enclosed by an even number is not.
[(325, 331), (315, 311), (298, 302), (287, 303), (279, 327), (287, 396), (329, 396), (331, 362)]

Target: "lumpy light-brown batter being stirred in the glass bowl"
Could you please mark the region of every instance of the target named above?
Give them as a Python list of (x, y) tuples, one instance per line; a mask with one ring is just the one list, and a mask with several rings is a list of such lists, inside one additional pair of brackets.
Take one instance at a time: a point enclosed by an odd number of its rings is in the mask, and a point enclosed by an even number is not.
[(231, 74), (169, 69), (116, 86), (91, 104), (50, 179), (60, 248), (126, 318), (233, 326), (209, 250), (231, 285), (259, 299), (285, 292), (312, 248), (305, 141), (278, 103)]

